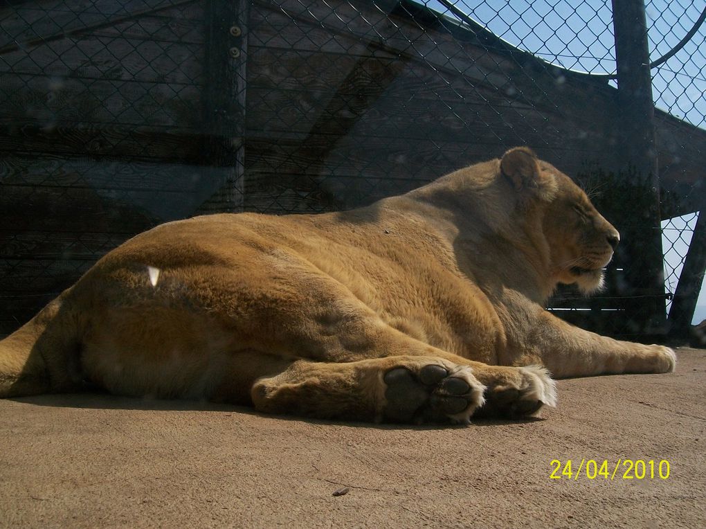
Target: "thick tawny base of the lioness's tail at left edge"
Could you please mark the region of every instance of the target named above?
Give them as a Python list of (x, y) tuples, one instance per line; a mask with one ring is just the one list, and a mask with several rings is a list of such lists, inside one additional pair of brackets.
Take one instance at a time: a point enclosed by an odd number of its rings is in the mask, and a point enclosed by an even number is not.
[(70, 366), (76, 365), (79, 340), (76, 319), (62, 307), (67, 292), (0, 340), (0, 398), (73, 386)]

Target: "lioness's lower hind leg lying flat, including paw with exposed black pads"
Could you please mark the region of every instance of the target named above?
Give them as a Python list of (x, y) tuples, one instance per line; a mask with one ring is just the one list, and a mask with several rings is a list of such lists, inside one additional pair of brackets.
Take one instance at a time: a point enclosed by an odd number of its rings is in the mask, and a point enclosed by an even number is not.
[(467, 423), (484, 386), (466, 365), (438, 357), (357, 362), (299, 360), (253, 385), (256, 410), (326, 419)]

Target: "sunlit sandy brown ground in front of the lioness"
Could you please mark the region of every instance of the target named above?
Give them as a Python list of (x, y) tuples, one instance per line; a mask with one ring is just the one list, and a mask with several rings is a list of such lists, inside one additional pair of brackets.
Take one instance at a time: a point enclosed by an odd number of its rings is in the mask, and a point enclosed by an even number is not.
[[(706, 350), (678, 350), (674, 374), (558, 388), (541, 420), (453, 428), (102, 395), (0, 400), (0, 526), (706, 527)], [(626, 459), (647, 462), (643, 479)], [(576, 477), (582, 460), (598, 465)], [(608, 477), (594, 477), (604, 460)]]

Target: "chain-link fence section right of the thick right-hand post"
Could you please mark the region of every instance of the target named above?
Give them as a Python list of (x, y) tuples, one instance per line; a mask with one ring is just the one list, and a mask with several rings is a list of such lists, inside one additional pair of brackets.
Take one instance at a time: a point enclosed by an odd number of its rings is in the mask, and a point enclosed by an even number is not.
[[(655, 105), (671, 116), (693, 125), (695, 128), (687, 141), (696, 144), (706, 129), (706, 8), (702, 2), (688, 0), (652, 0), (647, 1), (645, 8), (652, 57), (668, 58), (652, 70)], [(669, 145), (671, 138), (662, 138), (662, 141)], [(694, 154), (702, 159), (705, 157), (702, 149)], [(706, 205), (703, 199), (693, 199), (694, 194), (703, 193), (705, 185), (703, 174), (698, 180), (681, 182), (681, 189), (676, 191), (674, 200), (691, 203), (692, 207), (681, 208), (681, 215), (662, 221), (665, 281), (670, 295), (667, 309), (670, 318), (675, 319), (678, 316), (675, 313), (680, 311), (680, 307), (672, 311), (672, 301), (675, 297), (676, 301), (679, 301), (679, 297), (686, 297), (686, 311), (693, 314), (684, 316), (685, 323), (706, 321), (706, 289), (702, 287), (706, 235), (702, 233), (702, 227), (697, 231), (697, 226), (704, 224), (704, 218), (701, 218), (700, 223), (698, 220), (700, 215), (706, 215)], [(698, 204), (700, 207), (697, 207)], [(702, 290), (701, 302), (693, 299), (698, 296), (699, 290)], [(692, 311), (694, 304), (695, 309)], [(703, 326), (697, 333), (694, 343), (706, 345)]]

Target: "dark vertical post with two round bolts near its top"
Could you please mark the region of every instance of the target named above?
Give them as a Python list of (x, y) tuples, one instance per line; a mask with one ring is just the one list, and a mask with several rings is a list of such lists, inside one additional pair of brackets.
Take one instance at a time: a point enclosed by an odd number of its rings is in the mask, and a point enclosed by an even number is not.
[(239, 213), (244, 208), (249, 5), (249, 0), (209, 0), (206, 4), (205, 165), (213, 167), (223, 184), (199, 213)]

